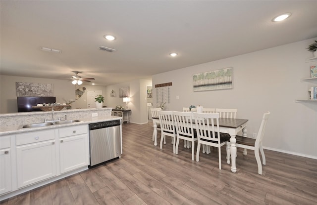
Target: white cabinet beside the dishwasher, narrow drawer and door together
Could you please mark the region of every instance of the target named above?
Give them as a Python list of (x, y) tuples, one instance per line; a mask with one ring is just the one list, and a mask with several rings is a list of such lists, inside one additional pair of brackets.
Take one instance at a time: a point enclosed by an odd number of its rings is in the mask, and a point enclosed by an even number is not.
[(89, 164), (88, 126), (79, 125), (59, 129), (60, 173)]

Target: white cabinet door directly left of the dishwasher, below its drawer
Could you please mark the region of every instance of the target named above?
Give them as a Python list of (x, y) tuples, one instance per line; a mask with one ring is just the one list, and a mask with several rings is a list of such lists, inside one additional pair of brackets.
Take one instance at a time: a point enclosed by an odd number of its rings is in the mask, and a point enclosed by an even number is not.
[(59, 139), (60, 173), (65, 173), (89, 164), (88, 134)]

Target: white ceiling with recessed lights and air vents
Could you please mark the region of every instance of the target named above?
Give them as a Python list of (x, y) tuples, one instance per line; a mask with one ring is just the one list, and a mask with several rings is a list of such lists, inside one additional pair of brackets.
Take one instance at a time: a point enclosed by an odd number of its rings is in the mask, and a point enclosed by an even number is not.
[[(1, 75), (67, 81), (81, 71), (100, 85), (317, 37), (317, 0), (1, 0), (0, 7)], [(286, 12), (284, 22), (271, 21)]]

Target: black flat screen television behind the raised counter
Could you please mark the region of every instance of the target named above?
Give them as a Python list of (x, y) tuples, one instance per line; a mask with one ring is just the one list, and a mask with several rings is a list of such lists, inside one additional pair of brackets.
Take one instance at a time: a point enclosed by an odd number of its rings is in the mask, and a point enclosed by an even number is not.
[(39, 108), (32, 108), (37, 104), (54, 103), (56, 97), (17, 97), (18, 112), (41, 111)]

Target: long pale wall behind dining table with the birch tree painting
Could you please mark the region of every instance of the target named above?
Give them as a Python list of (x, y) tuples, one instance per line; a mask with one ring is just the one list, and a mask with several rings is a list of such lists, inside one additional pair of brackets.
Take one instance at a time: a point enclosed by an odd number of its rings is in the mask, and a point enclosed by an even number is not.
[[(310, 66), (317, 64), (305, 62), (313, 57), (306, 48), (314, 40), (161, 73), (153, 76), (153, 85), (172, 82), (166, 110), (181, 111), (190, 105), (237, 108), (237, 118), (249, 119), (249, 136), (258, 131), (264, 112), (270, 111), (264, 147), (317, 159), (317, 102), (295, 102), (307, 99), (309, 87), (317, 86), (316, 81), (301, 82), (310, 78)], [(233, 67), (233, 89), (193, 92), (193, 74), (227, 67)], [(155, 107), (155, 88), (153, 92)]]

